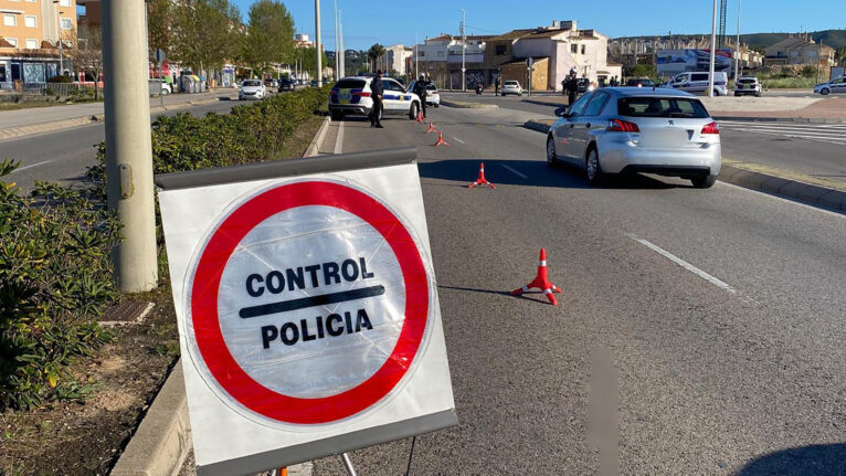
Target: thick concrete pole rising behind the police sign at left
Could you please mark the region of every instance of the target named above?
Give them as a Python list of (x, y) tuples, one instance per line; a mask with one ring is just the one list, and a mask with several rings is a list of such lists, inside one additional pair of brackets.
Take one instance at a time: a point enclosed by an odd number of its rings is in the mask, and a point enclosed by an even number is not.
[(145, 3), (102, 3), (108, 208), (124, 225), (113, 262), (118, 288), (138, 293), (158, 282)]

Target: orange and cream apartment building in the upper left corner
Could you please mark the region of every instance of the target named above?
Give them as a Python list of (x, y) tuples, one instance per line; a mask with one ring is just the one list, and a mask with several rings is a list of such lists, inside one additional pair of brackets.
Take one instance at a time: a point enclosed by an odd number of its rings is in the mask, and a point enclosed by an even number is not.
[[(22, 89), (70, 73), (59, 38), (76, 33), (76, 0), (0, 0), (0, 89)], [(66, 60), (66, 61), (64, 61)]]

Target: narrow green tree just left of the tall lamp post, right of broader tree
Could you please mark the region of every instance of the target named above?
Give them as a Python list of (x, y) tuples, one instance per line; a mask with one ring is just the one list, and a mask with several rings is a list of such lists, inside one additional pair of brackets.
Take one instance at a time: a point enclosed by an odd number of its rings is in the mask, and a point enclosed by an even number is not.
[(241, 43), (241, 57), (260, 74), (283, 63), (294, 50), (294, 20), (277, 0), (260, 0), (250, 7), (250, 23)]

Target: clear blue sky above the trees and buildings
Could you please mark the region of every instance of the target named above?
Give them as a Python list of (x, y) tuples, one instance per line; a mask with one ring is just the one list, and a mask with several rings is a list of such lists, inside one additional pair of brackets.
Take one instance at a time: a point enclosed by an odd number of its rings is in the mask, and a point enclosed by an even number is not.
[[(252, 0), (234, 0), (244, 20)], [(409, 0), (337, 0), (343, 10), (347, 49), (366, 50), (384, 45), (413, 44), (441, 32), (458, 33), (461, 9), (467, 12), (467, 33), (496, 34), (518, 28), (551, 24), (552, 20), (579, 21), (610, 36), (642, 34), (710, 33), (710, 0), (426, 0), (425, 15), (417, 20), (419, 3)], [(297, 32), (314, 39), (314, 0), (285, 0)], [(519, 9), (515, 9), (519, 6)], [(676, 7), (674, 7), (676, 6)], [(807, 8), (803, 9), (802, 6)], [(334, 49), (332, 0), (320, 0), (324, 43)], [(727, 31), (737, 31), (738, 0), (729, 0)], [(742, 0), (742, 33), (796, 32), (846, 29), (844, 0)]]

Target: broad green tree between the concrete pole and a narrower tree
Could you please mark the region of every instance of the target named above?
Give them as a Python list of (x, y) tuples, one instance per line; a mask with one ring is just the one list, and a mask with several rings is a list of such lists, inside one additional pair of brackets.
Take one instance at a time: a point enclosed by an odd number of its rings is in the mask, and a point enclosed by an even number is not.
[(229, 0), (179, 0), (171, 11), (175, 61), (202, 71), (235, 59), (242, 34), (241, 12)]

